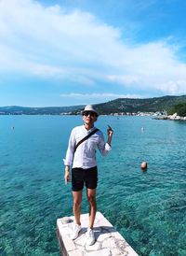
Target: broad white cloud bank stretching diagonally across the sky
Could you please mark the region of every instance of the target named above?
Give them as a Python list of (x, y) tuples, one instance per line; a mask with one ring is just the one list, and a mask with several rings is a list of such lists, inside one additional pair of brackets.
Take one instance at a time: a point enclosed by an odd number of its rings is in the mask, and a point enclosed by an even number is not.
[(0, 56), (0, 73), (186, 92), (186, 64), (168, 40), (129, 45), (119, 29), (90, 13), (33, 0), (0, 1)]

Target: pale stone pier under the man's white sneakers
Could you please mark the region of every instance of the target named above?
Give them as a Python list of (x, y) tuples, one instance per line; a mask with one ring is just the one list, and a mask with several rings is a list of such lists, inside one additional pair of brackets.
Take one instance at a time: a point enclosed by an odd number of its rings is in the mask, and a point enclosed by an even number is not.
[(75, 240), (70, 238), (73, 220), (73, 217), (63, 217), (57, 220), (57, 235), (62, 256), (138, 256), (124, 237), (100, 212), (96, 215), (94, 224), (96, 243), (92, 246), (86, 246), (88, 214), (81, 215), (82, 231)]

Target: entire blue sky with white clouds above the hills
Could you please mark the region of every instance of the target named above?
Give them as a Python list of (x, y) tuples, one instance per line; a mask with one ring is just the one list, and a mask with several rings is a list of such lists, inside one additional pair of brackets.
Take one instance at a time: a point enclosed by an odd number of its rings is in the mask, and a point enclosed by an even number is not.
[(186, 94), (186, 1), (0, 0), (0, 106)]

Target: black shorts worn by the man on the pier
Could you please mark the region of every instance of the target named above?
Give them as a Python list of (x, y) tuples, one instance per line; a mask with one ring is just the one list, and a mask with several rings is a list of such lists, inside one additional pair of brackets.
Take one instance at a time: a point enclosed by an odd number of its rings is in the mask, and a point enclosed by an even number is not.
[(83, 169), (83, 168), (73, 168), (72, 169), (72, 190), (73, 192), (80, 192), (84, 188), (84, 183), (86, 183), (86, 188), (94, 190), (97, 188), (98, 184), (98, 169), (97, 166)]

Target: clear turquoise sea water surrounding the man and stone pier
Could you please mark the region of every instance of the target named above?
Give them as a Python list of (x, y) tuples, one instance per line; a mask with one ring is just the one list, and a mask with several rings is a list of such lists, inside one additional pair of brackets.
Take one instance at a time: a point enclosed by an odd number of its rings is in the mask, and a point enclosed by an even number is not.
[[(56, 220), (73, 214), (62, 158), (81, 123), (0, 116), (0, 255), (60, 255)], [(186, 255), (186, 121), (101, 116), (105, 135), (107, 124), (113, 150), (105, 158), (98, 152), (98, 209), (140, 255)]]

